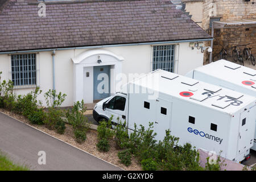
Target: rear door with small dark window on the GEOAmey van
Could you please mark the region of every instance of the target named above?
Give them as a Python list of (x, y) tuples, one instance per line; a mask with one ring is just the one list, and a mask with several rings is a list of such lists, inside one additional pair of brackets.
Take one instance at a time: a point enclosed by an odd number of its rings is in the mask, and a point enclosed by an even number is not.
[(246, 118), (247, 111), (243, 111), (240, 114), (240, 126), (239, 126), (239, 136), (238, 136), (238, 155), (245, 152), (249, 149), (247, 146), (250, 143), (249, 136), (249, 122), (247, 121), (249, 118)]

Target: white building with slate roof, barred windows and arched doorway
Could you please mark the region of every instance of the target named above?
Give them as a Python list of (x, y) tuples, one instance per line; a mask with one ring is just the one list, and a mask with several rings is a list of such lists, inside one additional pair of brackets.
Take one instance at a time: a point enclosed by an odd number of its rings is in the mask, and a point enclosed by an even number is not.
[(167, 0), (39, 3), (0, 6), (1, 80), (13, 80), (16, 94), (56, 89), (67, 94), (63, 106), (108, 97), (121, 76), (124, 84), (159, 68), (185, 75), (203, 65), (212, 39)]

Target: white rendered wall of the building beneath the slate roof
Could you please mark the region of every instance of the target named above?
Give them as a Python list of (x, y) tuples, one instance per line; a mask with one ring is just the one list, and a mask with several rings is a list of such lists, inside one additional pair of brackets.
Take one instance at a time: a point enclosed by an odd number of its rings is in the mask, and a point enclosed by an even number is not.
[[(152, 46), (143, 45), (143, 46), (120, 46), (120, 47), (107, 47), (101, 48), (107, 51), (113, 52), (115, 55), (122, 56), (123, 61), (121, 65), (122, 73), (125, 73), (127, 79), (129, 73), (148, 73), (151, 71), (151, 59), (152, 59)], [(62, 92), (67, 94), (67, 98), (64, 101), (62, 106), (71, 106), (75, 101), (74, 85), (79, 84), (82, 86), (80, 91), (79, 98), (85, 98), (86, 101), (92, 101), (93, 86), (92, 80), (86, 80), (85, 74), (87, 69), (90, 72), (90, 76), (93, 76), (93, 67), (87, 67), (86, 69), (81, 68), (81, 74), (74, 73), (74, 64), (72, 58), (76, 57), (84, 51), (89, 49), (71, 49), (65, 51), (56, 51), (55, 52), (55, 89), (57, 92)], [(179, 46), (176, 46), (176, 67), (175, 73), (180, 75), (185, 75), (185, 73), (200, 67), (203, 65), (203, 53), (201, 49), (191, 49), (189, 43), (179, 43)], [(52, 52), (39, 52), (37, 53), (38, 62), (39, 62), (39, 85), (40, 89), (43, 90), (43, 93), (47, 90), (53, 88), (52, 81)], [(97, 61), (97, 60), (93, 60)], [(0, 71), (2, 71), (1, 80), (11, 79), (10, 75), (10, 55), (0, 55)], [(112, 64), (112, 68), (114, 65)], [(115, 69), (119, 69), (115, 67)], [(110, 73), (110, 77), (115, 76), (113, 72)], [(75, 76), (75, 77), (74, 77)], [(76, 77), (77, 76), (77, 77)], [(76, 79), (74, 79), (76, 78)], [(92, 79), (92, 77), (90, 78)], [(76, 83), (73, 81), (76, 80)], [(86, 81), (86, 85), (84, 84)], [(89, 81), (89, 82), (88, 82)], [(128, 81), (128, 80), (127, 80)], [(111, 92), (114, 92), (113, 83), (110, 82)], [(16, 94), (26, 94), (31, 92), (33, 89), (16, 89)], [(39, 100), (44, 101), (43, 94), (39, 96)], [(45, 102), (43, 102), (45, 105)]]

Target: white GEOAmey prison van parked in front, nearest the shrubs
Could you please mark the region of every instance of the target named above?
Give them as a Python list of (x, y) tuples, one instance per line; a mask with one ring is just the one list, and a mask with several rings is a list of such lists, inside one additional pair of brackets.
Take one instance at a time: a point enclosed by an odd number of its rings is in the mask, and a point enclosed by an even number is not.
[(255, 97), (158, 69), (98, 102), (93, 118), (126, 119), (130, 132), (134, 123), (154, 122), (157, 140), (170, 129), (181, 145), (222, 151), (224, 158), (241, 162), (253, 146), (255, 102)]

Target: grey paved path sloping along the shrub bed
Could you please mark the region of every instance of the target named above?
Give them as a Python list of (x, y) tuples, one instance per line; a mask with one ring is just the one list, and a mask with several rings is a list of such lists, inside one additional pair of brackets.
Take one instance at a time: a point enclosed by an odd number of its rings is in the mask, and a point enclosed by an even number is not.
[[(0, 113), (0, 150), (15, 163), (31, 170), (120, 170), (101, 159), (61, 142)], [(38, 164), (38, 152), (46, 152), (46, 164)]]

